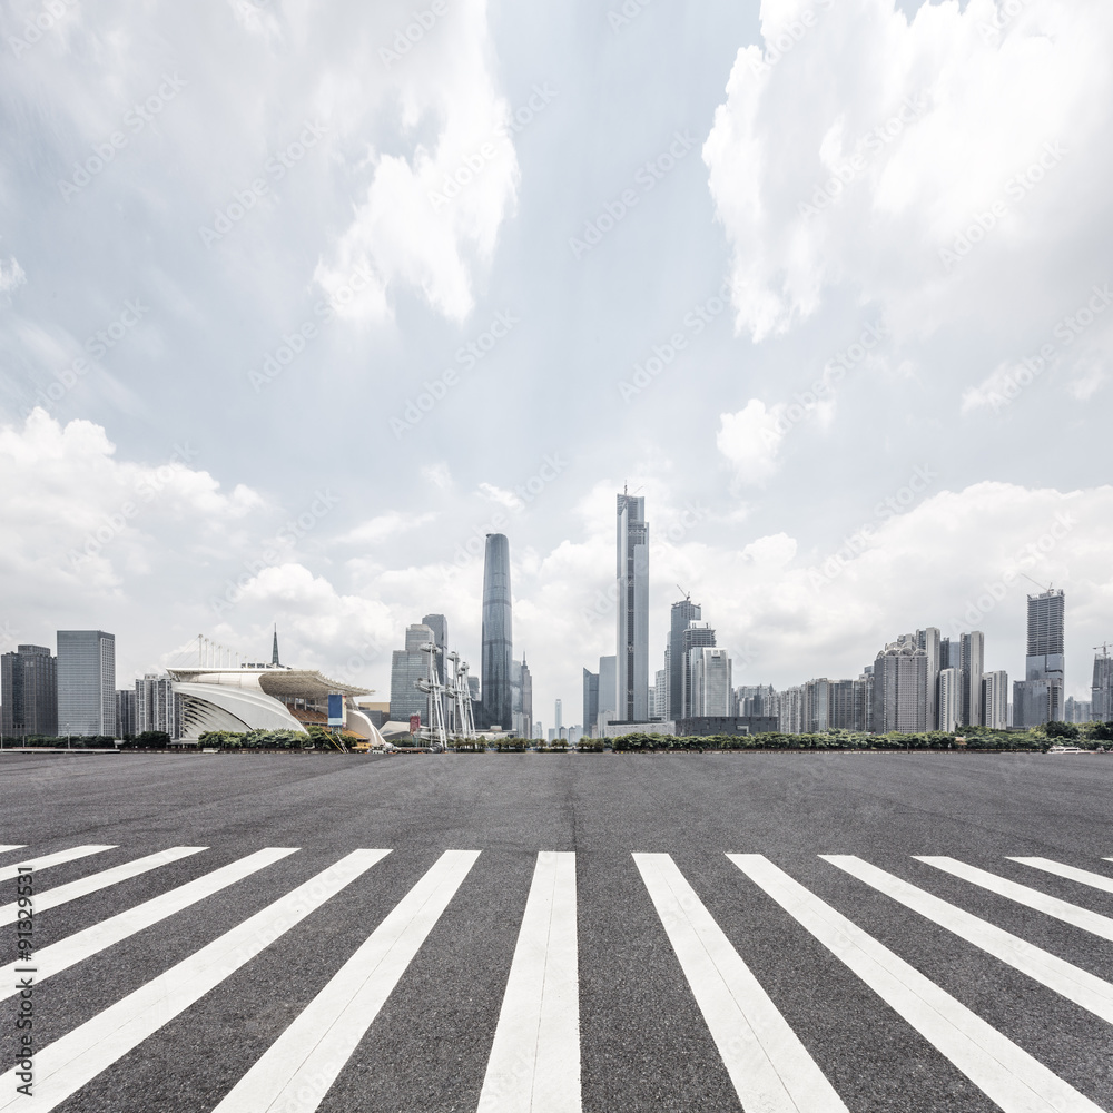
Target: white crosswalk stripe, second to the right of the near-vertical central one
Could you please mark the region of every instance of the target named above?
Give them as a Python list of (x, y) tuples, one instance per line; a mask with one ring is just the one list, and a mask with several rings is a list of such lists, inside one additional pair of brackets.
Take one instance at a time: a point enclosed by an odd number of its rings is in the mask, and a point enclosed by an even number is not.
[(760, 854), (727, 855), (1004, 1113), (1102, 1113), (1023, 1047)]

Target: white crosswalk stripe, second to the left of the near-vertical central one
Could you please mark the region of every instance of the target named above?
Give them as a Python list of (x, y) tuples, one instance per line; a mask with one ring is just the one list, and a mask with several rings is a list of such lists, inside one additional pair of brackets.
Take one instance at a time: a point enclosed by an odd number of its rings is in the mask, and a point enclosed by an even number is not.
[(0, 1110), (46, 1113), (185, 1012), (260, 951), (390, 854), (353, 850), (334, 866), (225, 932), (208, 946), (129, 993), (35, 1056), (35, 1093), (16, 1092), (17, 1071), (0, 1077)]

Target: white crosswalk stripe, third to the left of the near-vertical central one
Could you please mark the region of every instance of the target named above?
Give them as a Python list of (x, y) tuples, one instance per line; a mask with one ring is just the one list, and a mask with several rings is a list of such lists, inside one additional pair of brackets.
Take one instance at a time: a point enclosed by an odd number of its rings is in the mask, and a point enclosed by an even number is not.
[[(157, 924), (159, 920), (173, 916), (175, 913), (188, 908), (198, 900), (219, 893), (236, 881), (243, 880), (250, 874), (270, 866), (290, 854), (296, 854), (297, 847), (269, 846), (263, 850), (256, 850), (246, 858), (233, 861), (220, 869), (214, 869), (211, 874), (205, 874), (193, 881), (179, 885), (169, 893), (152, 897), (142, 904), (128, 908), (116, 916), (102, 919), (99, 924), (77, 932), (73, 935), (60, 939), (58, 943), (43, 947), (35, 955), (35, 966), (37, 969), (36, 981), (42, 982), (53, 974), (60, 974), (65, 969), (77, 963), (83, 962), (90, 955), (95, 955), (106, 947), (111, 947), (121, 939), (141, 932), (144, 928)], [(0, 1001), (12, 997), (18, 992), (16, 988), (16, 967), (19, 963), (9, 963), (0, 967)]]

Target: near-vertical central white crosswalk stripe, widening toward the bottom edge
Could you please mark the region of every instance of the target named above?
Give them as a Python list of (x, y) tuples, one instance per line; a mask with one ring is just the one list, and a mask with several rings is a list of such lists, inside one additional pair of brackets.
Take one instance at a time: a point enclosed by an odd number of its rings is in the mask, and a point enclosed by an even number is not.
[(580, 1113), (575, 855), (538, 855), (480, 1113)]

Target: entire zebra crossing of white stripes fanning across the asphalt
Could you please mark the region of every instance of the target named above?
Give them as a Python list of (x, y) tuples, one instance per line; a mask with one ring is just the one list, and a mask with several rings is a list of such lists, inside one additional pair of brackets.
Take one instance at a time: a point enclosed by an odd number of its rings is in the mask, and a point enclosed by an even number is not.
[[(4, 846), (0, 855), (26, 849)], [(20, 876), (20, 866), (32, 866), (35, 914), (41, 915), (95, 894), (110, 894), (114, 886), (175, 863), (200, 864), (209, 850), (173, 846), (52, 887), (38, 876), (114, 849), (121, 848), (83, 845), (23, 858), (0, 865), (0, 879), (12, 880)], [(30, 959), (0, 967), (0, 999), (16, 996), (29, 972), (38, 987), (148, 928), (171, 929), (175, 916), (209, 897), (235, 902), (237, 886), (252, 878), (265, 881), (269, 870), (296, 861), (299, 853), (296, 847), (265, 847), (246, 854), (51, 942)], [(194, 949), (187, 942), (183, 957), (167, 969), (36, 1046), (30, 1093), (19, 1090), (27, 1072), (21, 1073), (18, 1064), (0, 1075), (0, 1111), (46, 1113), (75, 1095), (80, 1101), (81, 1091), (93, 1080), (125, 1056), (156, 1047), (165, 1038), (162, 1030), (188, 1017), (203, 998), (267, 948), (311, 918), (326, 915), (346, 890), (373, 885), (376, 867), (381, 870), (380, 864), (391, 854), (390, 849), (343, 854), (293, 888), (279, 885), (264, 907), (204, 946)], [(385, 916), (366, 925), (363, 942), (324, 984), (314, 987), (312, 999), (254, 1062), (243, 1065), (238, 1078), (210, 1107), (218, 1113), (327, 1109), (337, 1080), (367, 1053), (376, 1018), (427, 948), (430, 936), (439, 924), (452, 920), (453, 903), (466, 894), (482, 857), (483, 851), (475, 849), (443, 851)], [(506, 909), (518, 925), (516, 942), (482, 1084), (477, 1100), (473, 1099), (480, 1113), (580, 1113), (592, 1107), (581, 1063), (578, 869), (585, 868), (584, 858), (571, 851), (538, 853), (524, 908)], [(786, 925), (806, 932), (833, 964), (849, 971), (994, 1106), (1005, 1113), (1100, 1113), (1102, 1106), (1041, 1062), (1038, 1047), (1022, 1047), (995, 1028), (883, 944), (868, 923), (837, 910), (767, 855), (727, 853), (726, 859), (730, 866), (725, 868), (738, 878), (747, 900), (759, 903), (764, 915), (781, 917)], [(717, 920), (705, 904), (708, 895), (701, 898), (670, 854), (634, 853), (627, 860), (656, 915), (654, 946), (666, 948), (679, 965), (740, 1107), (747, 1113), (848, 1113), (854, 1106), (825, 1073), (819, 1048), (794, 1030), (775, 1001), (775, 987), (762, 984), (731, 942), (731, 925)], [(1041, 877), (1054, 877), (1067, 889), (1077, 886), (1078, 899), (1085, 893), (1113, 894), (1113, 871), (1047, 858), (1003, 859), (1032, 871), (1033, 884), (1025, 885), (952, 857), (917, 855), (913, 860), (971, 886), (972, 892), (992, 893), (1078, 929), (1096, 947), (1113, 942), (1113, 917), (1037, 887)], [(1075, 963), (861, 857), (819, 855), (817, 865), (831, 876), (853, 879), (863, 894), (879, 894), (899, 915), (935, 925), (976, 948), (988, 967), (1008, 967), (1103, 1024), (1113, 1024), (1113, 984)], [(924, 874), (920, 870), (917, 877), (923, 880)], [(18, 902), (0, 906), (0, 923), (16, 923), (18, 913)], [(612, 945), (621, 946), (621, 940)], [(1113, 1046), (1113, 1034), (1109, 1042)], [(374, 1095), (365, 1095), (359, 1107), (376, 1109)]]

